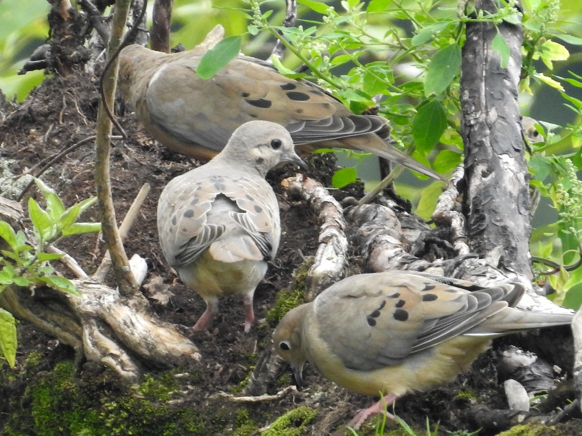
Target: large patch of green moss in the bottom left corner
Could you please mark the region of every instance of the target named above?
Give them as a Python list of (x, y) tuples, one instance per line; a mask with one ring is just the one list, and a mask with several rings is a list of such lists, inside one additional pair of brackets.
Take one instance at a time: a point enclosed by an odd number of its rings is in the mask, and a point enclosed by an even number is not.
[(206, 436), (220, 434), (225, 422), (233, 421), (229, 416), (233, 412), (223, 408), (172, 405), (171, 399), (183, 400), (175, 393), (179, 389), (170, 373), (147, 374), (141, 384), (132, 386), (101, 369), (75, 378), (73, 362), (61, 362), (52, 371), (37, 374), (22, 398), (10, 399), (0, 433)]

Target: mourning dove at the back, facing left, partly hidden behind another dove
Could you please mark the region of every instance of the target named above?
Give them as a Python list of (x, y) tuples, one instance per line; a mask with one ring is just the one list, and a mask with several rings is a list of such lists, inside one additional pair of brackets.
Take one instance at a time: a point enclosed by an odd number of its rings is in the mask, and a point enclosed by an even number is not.
[(119, 88), (145, 129), (173, 151), (210, 159), (237, 127), (266, 120), (289, 130), (301, 151), (339, 147), (374, 153), (447, 181), (386, 144), (381, 116), (354, 115), (313, 83), (282, 76), (260, 59), (237, 56), (209, 80), (196, 75), (207, 45), (179, 53), (129, 45), (119, 53)]

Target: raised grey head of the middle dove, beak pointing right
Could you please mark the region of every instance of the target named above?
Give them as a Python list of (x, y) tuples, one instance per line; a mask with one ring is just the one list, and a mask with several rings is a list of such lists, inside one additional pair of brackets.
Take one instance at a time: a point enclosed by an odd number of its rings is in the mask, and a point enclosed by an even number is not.
[(249, 121), (237, 128), (215, 159), (225, 158), (255, 169), (262, 177), (281, 162), (292, 162), (307, 170), (306, 163), (295, 152), (289, 132), (271, 121)]

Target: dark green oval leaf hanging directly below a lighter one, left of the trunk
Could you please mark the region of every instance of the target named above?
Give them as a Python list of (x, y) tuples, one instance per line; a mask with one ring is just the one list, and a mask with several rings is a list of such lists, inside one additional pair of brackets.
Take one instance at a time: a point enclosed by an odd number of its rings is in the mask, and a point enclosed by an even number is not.
[(440, 102), (421, 104), (412, 123), (412, 135), (418, 151), (427, 155), (446, 128), (446, 113)]

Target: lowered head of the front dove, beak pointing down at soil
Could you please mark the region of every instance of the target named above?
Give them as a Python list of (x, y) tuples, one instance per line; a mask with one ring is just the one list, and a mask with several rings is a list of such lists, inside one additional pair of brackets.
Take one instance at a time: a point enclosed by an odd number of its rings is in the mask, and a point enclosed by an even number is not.
[(307, 362), (307, 356), (301, 346), (301, 333), (310, 306), (311, 303), (307, 303), (289, 310), (273, 335), (275, 352), (290, 364), (299, 389), (303, 385), (303, 365)]

